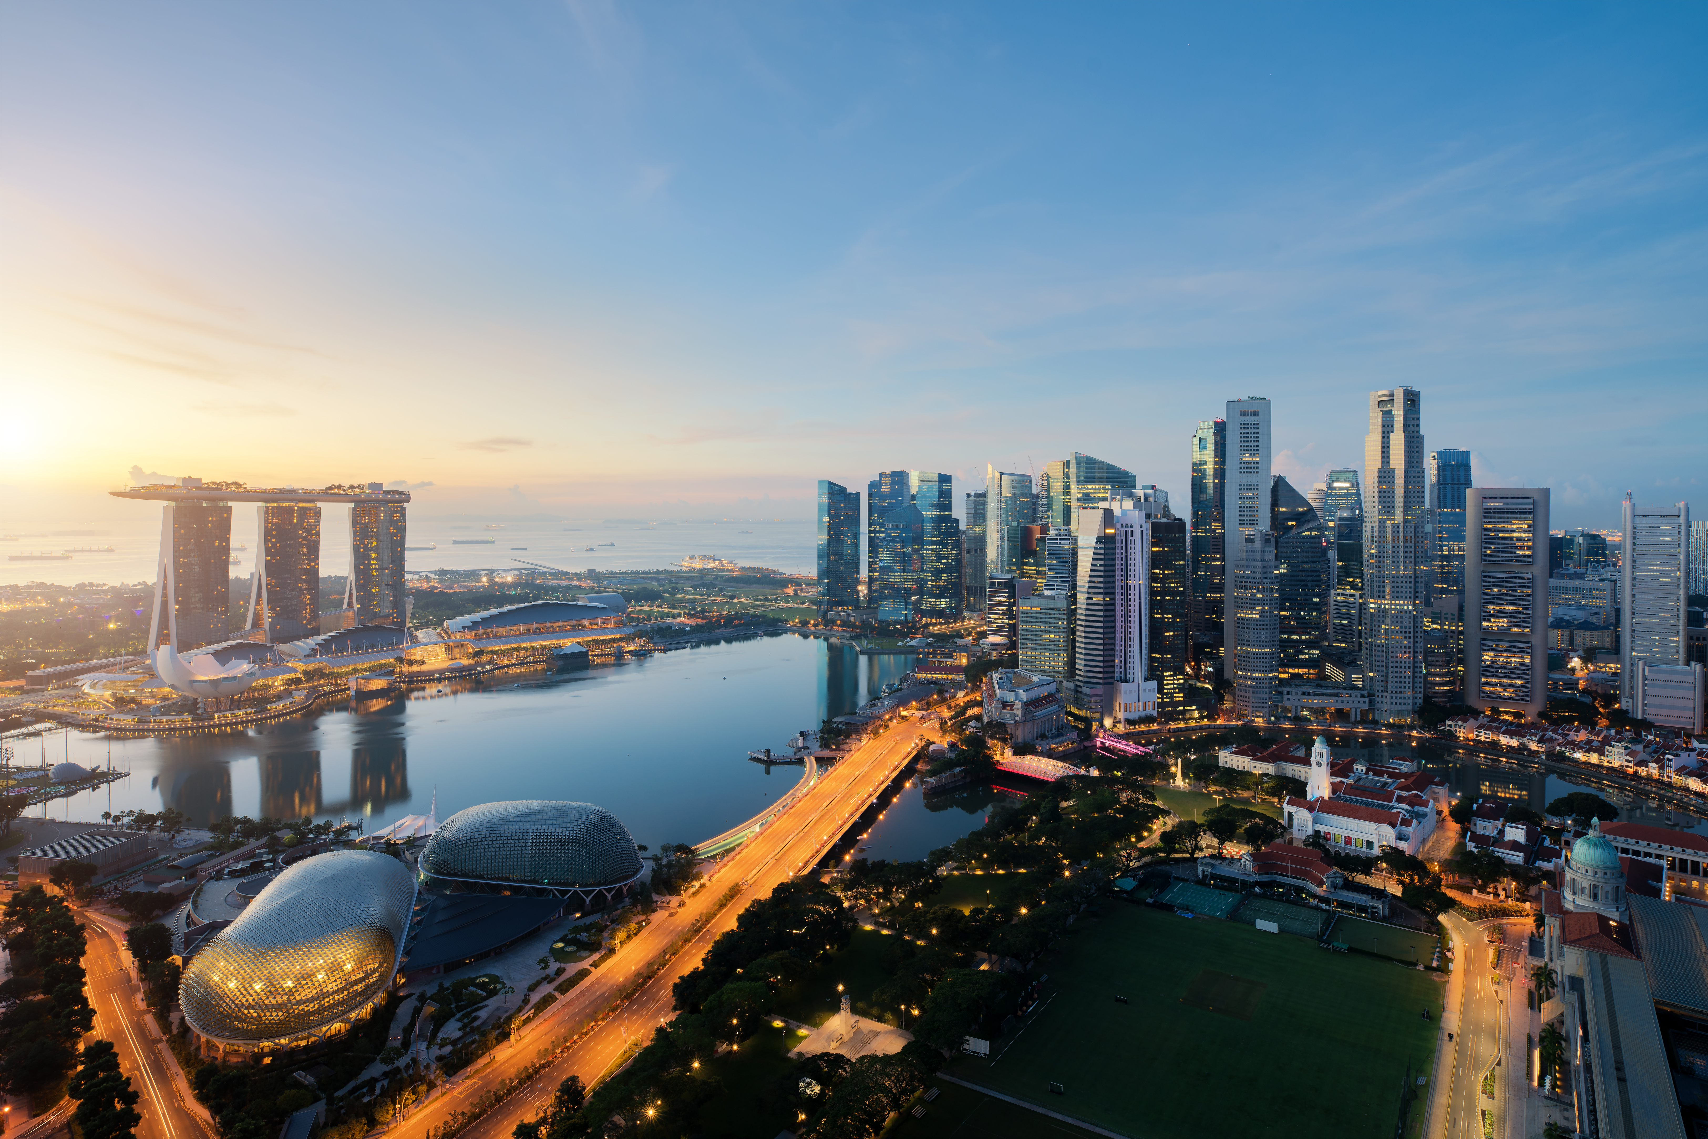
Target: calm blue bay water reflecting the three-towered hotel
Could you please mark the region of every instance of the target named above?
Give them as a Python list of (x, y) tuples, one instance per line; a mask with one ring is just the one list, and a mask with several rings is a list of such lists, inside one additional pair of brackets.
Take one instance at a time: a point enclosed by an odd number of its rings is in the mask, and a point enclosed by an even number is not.
[[(699, 842), (758, 813), (799, 767), (746, 758), (784, 750), (912, 668), (822, 639), (774, 635), (574, 671), (506, 671), (219, 736), (109, 739), (58, 733), (48, 763), (111, 763), (130, 779), (48, 806), (53, 818), (176, 806), (225, 815), (360, 818), (376, 830), (497, 799), (576, 799), (623, 820), (635, 842)], [(34, 745), (34, 746), (32, 746)], [(41, 745), (20, 743), (15, 763)], [(109, 804), (111, 794), (111, 804)], [(34, 815), (36, 811), (31, 811)]]

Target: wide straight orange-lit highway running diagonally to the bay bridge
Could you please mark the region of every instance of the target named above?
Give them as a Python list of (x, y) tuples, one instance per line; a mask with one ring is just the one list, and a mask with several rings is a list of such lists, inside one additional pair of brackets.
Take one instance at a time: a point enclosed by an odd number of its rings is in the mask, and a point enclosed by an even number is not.
[(468, 1110), (485, 1093), (514, 1078), (536, 1060), (543, 1045), (562, 1038), (572, 1025), (610, 1006), (635, 972), (646, 970), (668, 949), (683, 926), (705, 914), (733, 883), (741, 883), (741, 893), (630, 997), (617, 1016), (596, 1026), (465, 1134), (509, 1139), (516, 1124), (536, 1115), (565, 1078), (574, 1074), (581, 1076), (584, 1084), (593, 1084), (606, 1076), (622, 1060), (630, 1042), (649, 1040), (654, 1028), (675, 1016), (670, 989), (676, 978), (699, 967), (705, 949), (721, 932), (734, 927), (736, 915), (750, 902), (767, 897), (779, 883), (818, 862), (849, 823), (900, 774), (926, 734), (927, 726), (907, 719), (840, 760), (799, 803), (726, 857), (705, 888), (685, 907), (670, 910), (668, 915), (661, 908), (652, 922), (593, 977), (526, 1025), (514, 1042), (500, 1045), (494, 1060), (485, 1062), (485, 1067), (477, 1062), (477, 1071), (447, 1083), (403, 1120), (393, 1124), (386, 1139), (420, 1139), (429, 1127), (444, 1124), (451, 1112)]

